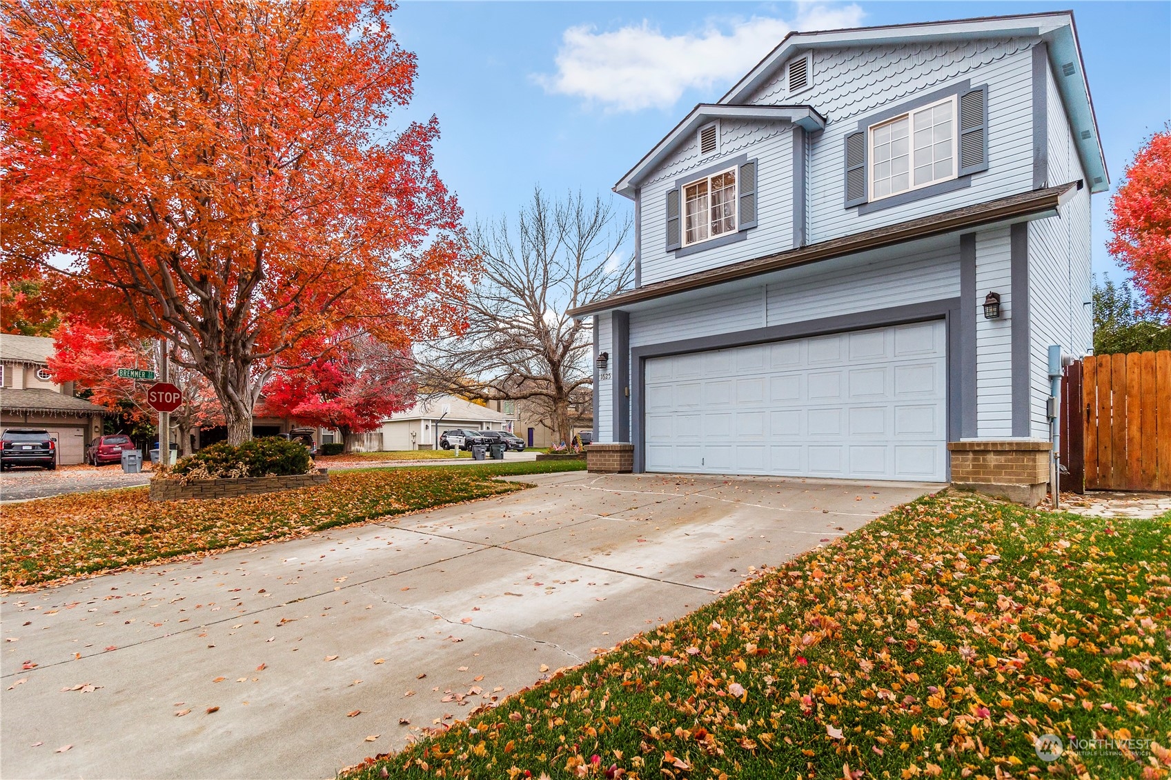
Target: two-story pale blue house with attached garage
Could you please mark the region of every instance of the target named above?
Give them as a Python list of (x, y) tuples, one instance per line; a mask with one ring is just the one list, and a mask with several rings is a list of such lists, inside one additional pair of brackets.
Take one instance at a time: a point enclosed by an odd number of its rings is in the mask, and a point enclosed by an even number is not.
[(598, 440), (635, 471), (876, 480), (1040, 449), (1108, 185), (1068, 12), (788, 35), (615, 186), (636, 287), (571, 312)]

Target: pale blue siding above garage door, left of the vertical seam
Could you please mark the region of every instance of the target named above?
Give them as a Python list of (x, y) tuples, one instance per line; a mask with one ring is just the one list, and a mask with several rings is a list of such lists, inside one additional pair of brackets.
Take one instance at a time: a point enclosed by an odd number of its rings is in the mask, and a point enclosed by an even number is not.
[(630, 345), (660, 344), (765, 326), (762, 287), (710, 293), (630, 314)]

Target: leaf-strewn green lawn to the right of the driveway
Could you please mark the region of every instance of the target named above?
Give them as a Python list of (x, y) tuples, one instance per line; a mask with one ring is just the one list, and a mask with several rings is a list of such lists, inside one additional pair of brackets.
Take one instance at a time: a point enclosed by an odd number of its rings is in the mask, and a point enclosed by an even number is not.
[(1166, 776), (1169, 529), (920, 499), (348, 780)]

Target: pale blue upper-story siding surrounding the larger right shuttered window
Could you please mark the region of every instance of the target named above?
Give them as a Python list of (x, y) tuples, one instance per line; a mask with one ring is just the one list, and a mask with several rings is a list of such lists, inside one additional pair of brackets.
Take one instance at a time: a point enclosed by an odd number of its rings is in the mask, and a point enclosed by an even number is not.
[[(982, 203), (1032, 190), (1033, 39), (874, 46), (814, 52), (814, 85), (802, 101), (828, 117), (824, 131), (809, 136), (808, 241), (815, 244), (927, 213)], [(860, 215), (845, 208), (844, 143), (860, 119), (916, 95), (970, 80), (988, 88), (989, 169), (971, 186)], [(766, 84), (749, 102), (783, 102), (783, 81)], [(1054, 184), (1054, 182), (1050, 182)]]

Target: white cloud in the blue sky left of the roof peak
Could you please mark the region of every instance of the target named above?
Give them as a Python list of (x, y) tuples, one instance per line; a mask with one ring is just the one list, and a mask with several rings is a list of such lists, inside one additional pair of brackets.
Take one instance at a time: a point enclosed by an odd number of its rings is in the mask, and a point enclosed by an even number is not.
[(570, 27), (555, 74), (535, 76), (546, 91), (574, 95), (609, 110), (671, 108), (689, 89), (726, 88), (793, 29), (857, 27), (857, 5), (799, 4), (793, 20), (712, 20), (699, 33), (665, 35), (648, 21), (616, 30)]

